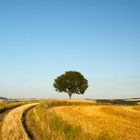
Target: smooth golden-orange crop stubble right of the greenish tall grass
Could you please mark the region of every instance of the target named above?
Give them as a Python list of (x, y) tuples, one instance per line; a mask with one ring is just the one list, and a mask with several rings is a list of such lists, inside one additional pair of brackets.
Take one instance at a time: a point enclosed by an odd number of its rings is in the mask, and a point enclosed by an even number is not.
[[(134, 110), (135, 109), (135, 110)], [(131, 106), (70, 106), (56, 107), (57, 116), (79, 124), (86, 132), (98, 138), (104, 135), (107, 139), (140, 139), (139, 107)], [(104, 138), (103, 138), (104, 139)]]

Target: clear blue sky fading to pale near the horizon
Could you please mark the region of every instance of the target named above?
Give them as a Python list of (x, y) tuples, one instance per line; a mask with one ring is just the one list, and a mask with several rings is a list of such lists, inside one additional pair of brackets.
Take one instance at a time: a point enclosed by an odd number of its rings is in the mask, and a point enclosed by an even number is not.
[(140, 1), (0, 0), (0, 96), (66, 98), (67, 70), (89, 81), (75, 98), (140, 97)]

